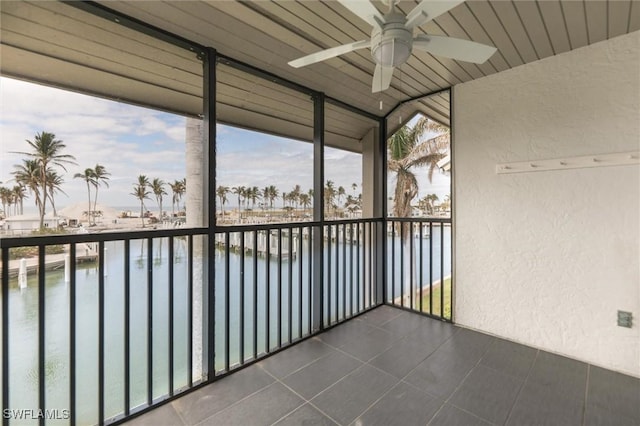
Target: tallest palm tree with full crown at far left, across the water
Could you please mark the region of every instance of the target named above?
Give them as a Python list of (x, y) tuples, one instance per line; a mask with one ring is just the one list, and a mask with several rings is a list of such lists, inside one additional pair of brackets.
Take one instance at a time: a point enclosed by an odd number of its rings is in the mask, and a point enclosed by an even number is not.
[[(39, 207), (40, 213), (40, 229), (44, 228), (44, 215), (47, 209), (47, 199), (49, 185), (47, 184), (47, 172), (51, 166), (62, 167), (64, 171), (65, 164), (76, 164), (75, 157), (69, 154), (62, 154), (62, 150), (66, 148), (66, 145), (56, 139), (56, 135), (49, 132), (37, 133), (33, 138), (33, 141), (27, 140), (29, 146), (33, 149), (33, 152), (18, 152), (18, 154), (24, 154), (34, 159), (40, 169), (38, 186), (40, 187), (42, 194)], [(49, 174), (49, 176), (51, 176)]]

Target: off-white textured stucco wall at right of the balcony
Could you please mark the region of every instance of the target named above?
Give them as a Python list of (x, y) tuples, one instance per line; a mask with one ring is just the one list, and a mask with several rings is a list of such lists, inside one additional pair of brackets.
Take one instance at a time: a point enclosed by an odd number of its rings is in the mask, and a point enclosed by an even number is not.
[(456, 322), (640, 376), (640, 167), (495, 173), (640, 149), (640, 32), (456, 86), (453, 113)]

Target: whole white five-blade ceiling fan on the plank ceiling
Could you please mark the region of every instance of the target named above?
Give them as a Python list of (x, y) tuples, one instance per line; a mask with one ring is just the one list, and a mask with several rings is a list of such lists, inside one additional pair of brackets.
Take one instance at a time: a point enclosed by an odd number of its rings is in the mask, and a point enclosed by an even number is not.
[(406, 16), (396, 7), (399, 0), (383, 0), (383, 3), (389, 7), (389, 12), (385, 15), (381, 14), (370, 0), (338, 1), (371, 24), (373, 27), (371, 39), (321, 50), (293, 60), (289, 65), (300, 68), (368, 47), (376, 62), (371, 86), (371, 91), (376, 93), (389, 88), (393, 70), (409, 59), (413, 49), (477, 64), (485, 62), (497, 50), (493, 46), (469, 40), (436, 35), (413, 36), (413, 30), (416, 27), (446, 13), (464, 0), (422, 0)]

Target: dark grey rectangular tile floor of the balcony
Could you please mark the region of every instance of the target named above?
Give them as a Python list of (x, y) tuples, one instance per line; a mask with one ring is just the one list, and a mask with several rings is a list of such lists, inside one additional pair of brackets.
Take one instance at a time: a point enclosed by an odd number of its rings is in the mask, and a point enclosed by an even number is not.
[(128, 423), (640, 425), (640, 379), (379, 307)]

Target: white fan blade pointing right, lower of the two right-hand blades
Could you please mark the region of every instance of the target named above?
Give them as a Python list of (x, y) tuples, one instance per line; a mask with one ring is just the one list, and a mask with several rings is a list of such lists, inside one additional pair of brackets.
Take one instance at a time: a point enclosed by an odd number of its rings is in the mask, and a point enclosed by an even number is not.
[(486, 62), (498, 50), (475, 41), (433, 35), (414, 38), (413, 47), (437, 56), (476, 64)]

